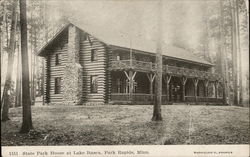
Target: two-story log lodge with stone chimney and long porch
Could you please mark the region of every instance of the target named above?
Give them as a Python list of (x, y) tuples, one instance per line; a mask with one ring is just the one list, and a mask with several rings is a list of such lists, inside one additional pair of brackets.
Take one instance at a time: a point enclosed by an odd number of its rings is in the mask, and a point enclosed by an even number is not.
[[(163, 45), (162, 103), (222, 103), (214, 65), (183, 48)], [(152, 104), (156, 44), (66, 24), (39, 51), (46, 103)]]

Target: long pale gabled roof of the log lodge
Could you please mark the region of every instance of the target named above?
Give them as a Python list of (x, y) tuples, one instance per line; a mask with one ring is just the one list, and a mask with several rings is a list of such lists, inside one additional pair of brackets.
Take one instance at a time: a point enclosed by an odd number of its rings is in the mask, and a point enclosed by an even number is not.
[[(75, 25), (82, 31), (94, 36), (99, 41), (103, 42), (104, 44), (108, 46), (113, 47), (120, 47), (125, 49), (133, 49), (138, 50), (142, 52), (148, 52), (148, 53), (156, 53), (156, 41), (152, 40), (146, 40), (143, 39), (140, 36), (137, 36), (136, 38), (129, 38), (122, 34), (121, 32), (116, 32), (115, 30), (112, 30), (112, 28), (108, 29), (98, 29), (97, 27), (93, 27), (87, 24), (79, 24), (79, 23), (68, 23), (66, 24), (55, 36), (46, 44), (44, 45), (39, 51), (39, 56), (44, 56), (43, 51), (47, 49), (47, 47), (52, 45), (52, 42), (62, 34), (62, 32), (65, 31), (65, 29), (68, 28), (69, 25)], [(197, 55), (193, 54), (191, 51), (188, 51), (186, 49), (176, 47), (169, 44), (162, 44), (162, 55), (170, 58), (180, 59), (184, 61), (194, 62), (198, 64), (204, 64), (208, 66), (212, 66), (210, 62), (206, 61), (203, 58), (198, 57)]]

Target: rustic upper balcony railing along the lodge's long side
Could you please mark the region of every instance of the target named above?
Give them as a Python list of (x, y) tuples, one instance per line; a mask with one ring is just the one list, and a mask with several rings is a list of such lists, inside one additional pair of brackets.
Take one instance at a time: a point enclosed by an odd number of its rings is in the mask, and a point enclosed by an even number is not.
[[(110, 70), (128, 70), (128, 69), (134, 69), (141, 72), (154, 72), (156, 71), (156, 64), (152, 62), (143, 62), (138, 60), (132, 60), (132, 61), (119, 60), (119, 61), (111, 61), (110, 63)], [(200, 71), (196, 69), (189, 69), (184, 67), (169, 66), (169, 65), (163, 65), (162, 71), (164, 74), (205, 78), (212, 81), (220, 80), (222, 78), (220, 75), (216, 73)]]

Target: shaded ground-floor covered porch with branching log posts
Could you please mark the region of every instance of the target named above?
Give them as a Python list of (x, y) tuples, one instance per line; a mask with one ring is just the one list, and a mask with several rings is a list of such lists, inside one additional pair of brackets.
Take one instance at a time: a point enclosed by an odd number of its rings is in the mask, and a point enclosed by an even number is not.
[[(222, 103), (222, 84), (217, 80), (164, 72), (162, 104)], [(155, 73), (134, 69), (111, 71), (110, 102), (115, 104), (153, 104)]]

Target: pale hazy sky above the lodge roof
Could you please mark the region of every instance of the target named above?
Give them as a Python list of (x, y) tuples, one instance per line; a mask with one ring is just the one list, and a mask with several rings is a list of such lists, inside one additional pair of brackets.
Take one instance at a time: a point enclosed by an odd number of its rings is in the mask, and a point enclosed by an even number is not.
[[(163, 36), (166, 43), (172, 43), (176, 31), (179, 38), (190, 45), (196, 45), (202, 30), (199, 1), (163, 1)], [(93, 26), (110, 27), (125, 36), (142, 36), (155, 40), (159, 5), (152, 0), (71, 0), (58, 4), (65, 14)], [(188, 29), (183, 29), (188, 28)]]

